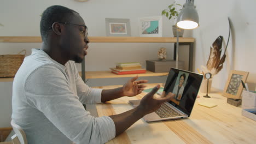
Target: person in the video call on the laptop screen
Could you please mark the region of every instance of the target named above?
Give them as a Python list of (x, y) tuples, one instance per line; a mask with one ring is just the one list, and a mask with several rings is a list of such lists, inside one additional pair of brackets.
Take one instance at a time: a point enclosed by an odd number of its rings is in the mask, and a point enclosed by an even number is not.
[[(187, 76), (186, 76), (187, 75)], [(173, 103), (176, 103), (177, 105), (179, 104), (179, 101), (182, 98), (182, 94), (184, 91), (184, 86), (186, 84), (186, 77), (188, 78), (188, 73), (185, 72), (179, 72), (179, 79), (176, 80), (176, 85), (173, 88), (172, 93), (175, 94), (175, 97), (173, 99), (171, 99), (173, 101)]]

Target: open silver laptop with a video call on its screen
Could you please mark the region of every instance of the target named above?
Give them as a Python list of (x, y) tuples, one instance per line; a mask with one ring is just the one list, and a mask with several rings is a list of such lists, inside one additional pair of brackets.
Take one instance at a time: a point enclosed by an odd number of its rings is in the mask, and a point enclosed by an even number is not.
[[(169, 119), (188, 118), (195, 104), (196, 96), (203, 79), (202, 74), (171, 68), (165, 83), (164, 91), (175, 94), (173, 99), (166, 101), (155, 112), (149, 113), (143, 119), (146, 122), (165, 121)], [(130, 100), (136, 107), (140, 100)]]

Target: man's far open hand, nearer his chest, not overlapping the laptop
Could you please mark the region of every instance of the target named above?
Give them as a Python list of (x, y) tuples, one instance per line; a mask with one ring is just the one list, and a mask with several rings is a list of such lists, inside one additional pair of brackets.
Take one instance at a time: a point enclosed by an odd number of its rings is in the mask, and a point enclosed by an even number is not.
[(122, 88), (124, 96), (133, 97), (135, 95), (140, 94), (144, 90), (144, 88), (147, 87), (146, 85), (138, 85), (138, 84), (147, 83), (148, 80), (135, 81), (137, 79), (138, 79), (138, 76), (135, 76), (125, 83), (125, 85)]

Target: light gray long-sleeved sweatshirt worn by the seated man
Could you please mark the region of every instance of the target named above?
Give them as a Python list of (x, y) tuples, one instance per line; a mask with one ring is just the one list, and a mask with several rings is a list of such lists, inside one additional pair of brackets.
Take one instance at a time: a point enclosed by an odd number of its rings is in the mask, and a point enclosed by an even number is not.
[(28, 143), (105, 143), (115, 137), (113, 120), (82, 105), (101, 103), (101, 92), (85, 85), (73, 61), (62, 65), (32, 49), (14, 78), (11, 118)]

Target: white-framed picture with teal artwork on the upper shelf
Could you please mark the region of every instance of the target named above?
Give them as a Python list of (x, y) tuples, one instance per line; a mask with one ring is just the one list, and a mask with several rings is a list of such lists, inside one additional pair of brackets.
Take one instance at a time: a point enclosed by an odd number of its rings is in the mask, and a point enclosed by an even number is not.
[(162, 37), (162, 16), (139, 18), (141, 37)]

